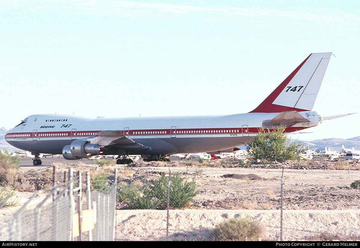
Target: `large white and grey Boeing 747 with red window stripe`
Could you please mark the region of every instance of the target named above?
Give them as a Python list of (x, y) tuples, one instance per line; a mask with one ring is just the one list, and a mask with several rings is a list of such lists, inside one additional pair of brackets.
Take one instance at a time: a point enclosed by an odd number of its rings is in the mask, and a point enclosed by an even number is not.
[[(285, 132), (317, 126), (323, 118), (311, 111), (332, 53), (310, 54), (256, 109), (228, 116), (105, 118), (60, 114), (27, 117), (5, 140), (36, 156), (63, 154), (80, 159), (96, 154), (131, 154), (148, 161), (176, 153), (219, 153), (246, 144), (260, 127), (285, 126)], [(326, 117), (325, 117), (326, 118)], [(122, 158), (122, 159), (120, 159)]]

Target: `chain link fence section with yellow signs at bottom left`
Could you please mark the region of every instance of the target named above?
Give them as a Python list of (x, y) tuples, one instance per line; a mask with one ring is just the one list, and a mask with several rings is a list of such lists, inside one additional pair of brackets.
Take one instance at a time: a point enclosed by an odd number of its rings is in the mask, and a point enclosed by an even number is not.
[[(54, 169), (55, 170), (55, 169)], [(30, 209), (35, 193), (9, 221), (9, 241), (114, 240), (116, 169), (114, 180), (93, 181), (86, 173), (68, 171), (68, 181), (55, 186)], [(79, 232), (79, 230), (81, 230)]]

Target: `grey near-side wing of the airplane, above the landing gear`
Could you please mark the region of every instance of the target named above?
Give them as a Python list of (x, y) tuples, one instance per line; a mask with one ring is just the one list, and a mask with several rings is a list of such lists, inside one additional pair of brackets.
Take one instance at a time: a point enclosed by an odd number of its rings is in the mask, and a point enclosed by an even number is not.
[(89, 141), (90, 144), (111, 145), (125, 150), (151, 150), (151, 148), (127, 138), (120, 130), (100, 131), (98, 134), (84, 140)]

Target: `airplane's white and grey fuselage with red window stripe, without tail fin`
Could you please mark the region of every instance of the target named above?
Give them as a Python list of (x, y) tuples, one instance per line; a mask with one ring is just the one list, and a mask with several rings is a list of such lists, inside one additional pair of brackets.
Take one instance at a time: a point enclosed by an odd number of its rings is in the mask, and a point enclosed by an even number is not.
[[(313, 120), (288, 127), (286, 132), (318, 125), (318, 113), (299, 113)], [(61, 154), (64, 146), (70, 145), (74, 140), (87, 139), (99, 131), (120, 130), (125, 137), (149, 147), (150, 151), (144, 152), (147, 154), (213, 152), (248, 143), (258, 134), (264, 120), (272, 119), (278, 114), (137, 118), (39, 114), (29, 116), (26, 122), (10, 130), (5, 135), (5, 140), (22, 150)], [(132, 153), (139, 154), (130, 152)], [(109, 150), (104, 154), (116, 155), (117, 150)]]

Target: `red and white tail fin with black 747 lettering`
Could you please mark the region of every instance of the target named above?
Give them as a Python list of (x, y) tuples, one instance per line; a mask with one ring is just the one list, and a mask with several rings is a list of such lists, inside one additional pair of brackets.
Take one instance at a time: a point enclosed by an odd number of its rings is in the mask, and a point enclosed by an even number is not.
[(312, 53), (250, 113), (310, 111), (332, 53)]

